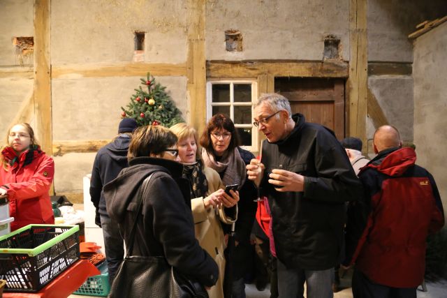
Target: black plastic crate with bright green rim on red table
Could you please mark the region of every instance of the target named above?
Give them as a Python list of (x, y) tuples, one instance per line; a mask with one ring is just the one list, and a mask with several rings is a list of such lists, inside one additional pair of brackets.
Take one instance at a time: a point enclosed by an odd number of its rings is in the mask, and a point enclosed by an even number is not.
[(78, 225), (27, 225), (0, 237), (4, 292), (38, 292), (79, 260)]

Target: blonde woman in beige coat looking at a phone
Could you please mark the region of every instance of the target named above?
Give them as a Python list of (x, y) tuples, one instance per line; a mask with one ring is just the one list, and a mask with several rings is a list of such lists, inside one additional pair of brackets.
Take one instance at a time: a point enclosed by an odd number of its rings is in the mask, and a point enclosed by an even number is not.
[(236, 221), (239, 193), (230, 191), (230, 195), (226, 194), (219, 174), (212, 168), (203, 166), (198, 155), (197, 133), (194, 128), (182, 123), (170, 130), (178, 137), (177, 149), (184, 165), (183, 177), (189, 179), (196, 238), (219, 266), (219, 280), (208, 290), (208, 295), (223, 298), (223, 250), (226, 241), (219, 221), (228, 225)]

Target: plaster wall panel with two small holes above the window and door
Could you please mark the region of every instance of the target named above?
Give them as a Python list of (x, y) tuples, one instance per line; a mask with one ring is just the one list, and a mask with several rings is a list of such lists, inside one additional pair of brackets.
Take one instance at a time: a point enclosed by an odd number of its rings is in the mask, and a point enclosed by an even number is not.
[[(227, 29), (242, 33), (243, 52), (226, 52)], [(207, 1), (208, 60), (321, 60), (328, 34), (341, 39), (349, 60), (349, 0)]]

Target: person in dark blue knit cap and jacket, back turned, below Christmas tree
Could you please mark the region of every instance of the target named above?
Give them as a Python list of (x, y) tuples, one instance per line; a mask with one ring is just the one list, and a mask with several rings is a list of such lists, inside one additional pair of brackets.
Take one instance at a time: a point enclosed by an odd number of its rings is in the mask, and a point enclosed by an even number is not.
[(95, 223), (103, 228), (105, 258), (108, 262), (110, 284), (124, 258), (124, 240), (119, 233), (117, 224), (107, 214), (103, 186), (115, 179), (124, 167), (129, 166), (127, 164), (127, 150), (135, 128), (137, 128), (135, 119), (122, 119), (119, 122), (118, 135), (112, 142), (99, 149), (91, 170), (90, 198), (96, 207)]

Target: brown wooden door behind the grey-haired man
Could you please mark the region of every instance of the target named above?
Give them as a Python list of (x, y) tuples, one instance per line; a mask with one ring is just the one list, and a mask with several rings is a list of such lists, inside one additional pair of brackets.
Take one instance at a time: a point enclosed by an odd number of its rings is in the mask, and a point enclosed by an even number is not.
[(344, 80), (275, 77), (274, 91), (288, 98), (293, 113), (330, 128), (339, 140), (344, 138)]

